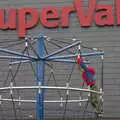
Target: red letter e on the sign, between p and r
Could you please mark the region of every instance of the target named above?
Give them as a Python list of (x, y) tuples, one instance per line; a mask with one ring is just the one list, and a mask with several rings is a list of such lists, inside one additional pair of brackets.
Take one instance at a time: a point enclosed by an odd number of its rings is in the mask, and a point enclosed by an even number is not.
[(55, 21), (59, 19), (59, 13), (54, 7), (43, 8), (40, 14), (40, 19), (45, 27), (55, 28), (59, 26), (59, 21)]

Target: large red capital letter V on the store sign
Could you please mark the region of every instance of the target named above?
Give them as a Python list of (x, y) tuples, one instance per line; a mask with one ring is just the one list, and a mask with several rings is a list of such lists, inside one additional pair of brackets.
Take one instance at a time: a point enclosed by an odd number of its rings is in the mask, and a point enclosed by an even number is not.
[(90, 0), (90, 1), (91, 2), (88, 5), (88, 14), (85, 15), (81, 0), (74, 0), (75, 7), (77, 10), (77, 16), (80, 20), (80, 25), (83, 27), (85, 26), (87, 27), (92, 24), (92, 16), (96, 5), (96, 0)]

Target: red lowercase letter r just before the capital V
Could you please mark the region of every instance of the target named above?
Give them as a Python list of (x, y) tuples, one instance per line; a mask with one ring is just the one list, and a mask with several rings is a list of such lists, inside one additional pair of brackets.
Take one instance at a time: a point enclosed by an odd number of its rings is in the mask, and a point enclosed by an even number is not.
[(71, 6), (62, 8), (62, 13), (61, 13), (61, 26), (62, 27), (69, 27), (69, 16), (71, 13), (75, 11), (76, 11), (75, 8)]

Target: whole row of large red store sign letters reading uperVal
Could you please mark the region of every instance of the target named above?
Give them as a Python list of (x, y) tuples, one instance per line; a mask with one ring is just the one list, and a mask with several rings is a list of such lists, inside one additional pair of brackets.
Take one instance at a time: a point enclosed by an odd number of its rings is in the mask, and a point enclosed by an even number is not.
[(71, 13), (76, 14), (81, 27), (91, 27), (92, 22), (98, 26), (120, 25), (120, 0), (114, 0), (114, 3), (115, 7), (89, 0), (86, 12), (82, 0), (73, 0), (73, 6), (65, 6), (61, 10), (52, 6), (40, 12), (36, 8), (0, 9), (0, 30), (17, 30), (19, 37), (25, 37), (27, 30), (38, 24), (46, 28), (67, 28)]

